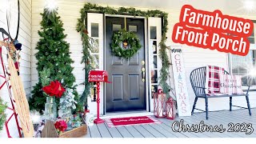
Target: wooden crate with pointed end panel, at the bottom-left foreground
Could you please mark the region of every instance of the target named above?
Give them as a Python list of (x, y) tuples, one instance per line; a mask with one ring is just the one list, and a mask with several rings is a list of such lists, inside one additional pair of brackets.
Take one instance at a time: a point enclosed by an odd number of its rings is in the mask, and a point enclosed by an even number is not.
[(54, 122), (47, 121), (46, 126), (42, 130), (42, 138), (80, 138), (87, 134), (87, 126), (83, 124), (80, 127), (74, 128), (72, 130), (67, 130), (62, 134), (57, 133), (55, 129)]

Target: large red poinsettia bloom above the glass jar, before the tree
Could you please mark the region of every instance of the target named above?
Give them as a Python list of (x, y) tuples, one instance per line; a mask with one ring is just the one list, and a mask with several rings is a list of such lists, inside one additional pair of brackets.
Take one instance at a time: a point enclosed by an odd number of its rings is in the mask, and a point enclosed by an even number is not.
[(42, 87), (42, 90), (46, 92), (46, 94), (55, 96), (56, 98), (61, 98), (65, 91), (62, 84), (58, 81), (50, 82), (50, 85)]

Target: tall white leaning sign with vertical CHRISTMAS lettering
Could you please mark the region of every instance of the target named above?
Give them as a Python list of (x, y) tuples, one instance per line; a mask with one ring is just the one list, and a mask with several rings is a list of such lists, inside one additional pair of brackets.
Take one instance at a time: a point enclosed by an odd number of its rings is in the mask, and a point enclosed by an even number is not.
[(182, 46), (170, 46), (171, 62), (174, 73), (178, 116), (190, 116), (190, 100), (186, 87), (186, 75), (183, 63)]

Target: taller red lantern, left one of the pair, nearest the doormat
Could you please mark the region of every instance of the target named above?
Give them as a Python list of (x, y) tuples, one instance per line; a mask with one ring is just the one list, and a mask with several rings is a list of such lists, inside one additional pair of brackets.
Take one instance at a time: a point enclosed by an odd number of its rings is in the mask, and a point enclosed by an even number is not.
[(162, 89), (159, 89), (158, 93), (154, 93), (154, 116), (166, 117), (166, 94), (163, 94)]

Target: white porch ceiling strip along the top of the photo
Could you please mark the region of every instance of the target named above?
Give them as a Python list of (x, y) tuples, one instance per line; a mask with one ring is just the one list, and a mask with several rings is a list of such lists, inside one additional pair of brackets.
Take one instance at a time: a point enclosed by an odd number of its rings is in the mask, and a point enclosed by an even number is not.
[[(243, 8), (246, 1), (252, 1), (253, 10)], [(256, 15), (256, 0), (86, 0), (86, 2), (109, 6), (133, 6), (163, 10), (180, 10), (185, 4), (196, 9), (221, 10), (223, 14)]]

